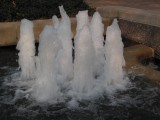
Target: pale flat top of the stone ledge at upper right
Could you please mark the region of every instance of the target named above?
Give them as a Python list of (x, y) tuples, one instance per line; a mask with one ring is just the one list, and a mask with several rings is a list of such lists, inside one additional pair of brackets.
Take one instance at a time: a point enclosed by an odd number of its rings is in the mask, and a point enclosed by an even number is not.
[(160, 27), (159, 11), (111, 5), (97, 7), (97, 11), (99, 11), (104, 18), (118, 17), (119, 19), (131, 22)]

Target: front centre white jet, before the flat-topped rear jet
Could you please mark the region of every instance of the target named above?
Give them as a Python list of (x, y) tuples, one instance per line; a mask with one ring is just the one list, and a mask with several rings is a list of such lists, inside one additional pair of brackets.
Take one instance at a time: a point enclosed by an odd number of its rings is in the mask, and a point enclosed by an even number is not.
[(73, 91), (82, 97), (93, 89), (93, 43), (88, 26), (84, 26), (75, 40)]

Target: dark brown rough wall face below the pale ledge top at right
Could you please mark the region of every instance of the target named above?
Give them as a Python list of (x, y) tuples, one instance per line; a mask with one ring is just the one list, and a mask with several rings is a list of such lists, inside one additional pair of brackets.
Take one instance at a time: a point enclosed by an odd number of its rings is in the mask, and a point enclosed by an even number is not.
[[(145, 44), (152, 48), (160, 46), (160, 27), (141, 23), (119, 20), (122, 35), (135, 42)], [(159, 51), (160, 52), (160, 51)]]

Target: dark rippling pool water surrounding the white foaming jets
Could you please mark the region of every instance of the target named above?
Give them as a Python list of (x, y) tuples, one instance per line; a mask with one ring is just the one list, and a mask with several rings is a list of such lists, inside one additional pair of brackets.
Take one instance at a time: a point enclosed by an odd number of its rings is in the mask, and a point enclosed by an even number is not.
[(13, 78), (19, 73), (18, 52), (15, 48), (16, 46), (0, 48), (0, 119), (160, 119), (160, 86), (144, 80), (143, 76), (130, 75), (132, 85), (125, 91), (118, 91), (113, 96), (81, 101), (78, 108), (70, 108), (65, 102), (38, 104), (24, 97), (13, 101), (17, 90)]

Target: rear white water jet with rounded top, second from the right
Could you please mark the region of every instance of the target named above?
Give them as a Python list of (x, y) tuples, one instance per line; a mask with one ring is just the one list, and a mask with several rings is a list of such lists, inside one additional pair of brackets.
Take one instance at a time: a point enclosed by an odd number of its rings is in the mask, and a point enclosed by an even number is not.
[(91, 24), (90, 24), (90, 30), (92, 34), (92, 41), (95, 48), (95, 67), (94, 67), (94, 74), (96, 76), (99, 76), (103, 74), (104, 71), (104, 25), (102, 23), (102, 17), (98, 12), (95, 12)]

